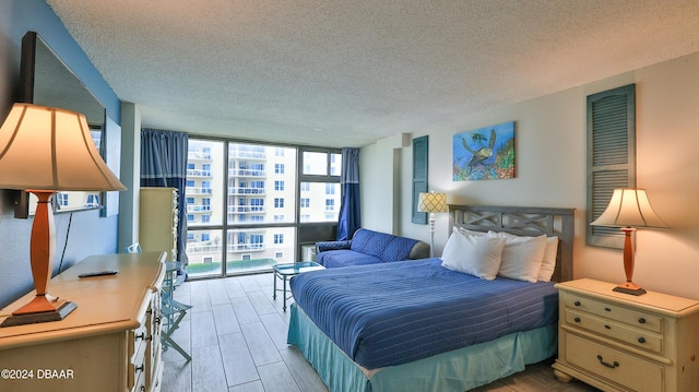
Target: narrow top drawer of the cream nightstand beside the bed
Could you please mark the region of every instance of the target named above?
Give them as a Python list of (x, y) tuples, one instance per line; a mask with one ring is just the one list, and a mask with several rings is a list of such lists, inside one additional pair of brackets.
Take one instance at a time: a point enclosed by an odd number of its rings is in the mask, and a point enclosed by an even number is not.
[(638, 310), (603, 302), (584, 296), (566, 293), (564, 301), (567, 308), (579, 309), (597, 314), (604, 319), (623, 322), (651, 332), (663, 333), (663, 318)]

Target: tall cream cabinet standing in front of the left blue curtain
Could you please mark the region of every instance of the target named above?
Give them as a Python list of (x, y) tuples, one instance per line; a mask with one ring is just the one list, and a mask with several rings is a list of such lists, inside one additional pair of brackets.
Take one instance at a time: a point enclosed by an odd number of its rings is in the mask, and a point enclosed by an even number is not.
[(165, 251), (177, 260), (178, 194), (176, 188), (141, 187), (139, 242), (144, 252)]

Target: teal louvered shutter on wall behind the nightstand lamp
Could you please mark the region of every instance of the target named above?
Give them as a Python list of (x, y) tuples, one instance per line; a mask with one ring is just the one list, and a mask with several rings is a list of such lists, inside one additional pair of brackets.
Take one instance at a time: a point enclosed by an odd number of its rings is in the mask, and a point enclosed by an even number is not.
[(636, 85), (588, 96), (587, 242), (624, 247), (615, 227), (591, 226), (606, 209), (615, 188), (636, 187)]

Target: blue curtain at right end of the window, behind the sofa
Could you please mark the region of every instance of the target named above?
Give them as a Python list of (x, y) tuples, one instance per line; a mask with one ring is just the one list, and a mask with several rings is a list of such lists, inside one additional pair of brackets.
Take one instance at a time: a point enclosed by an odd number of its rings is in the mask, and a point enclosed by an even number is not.
[(337, 240), (351, 239), (362, 227), (359, 222), (359, 149), (342, 149), (340, 177), (342, 202), (337, 223)]

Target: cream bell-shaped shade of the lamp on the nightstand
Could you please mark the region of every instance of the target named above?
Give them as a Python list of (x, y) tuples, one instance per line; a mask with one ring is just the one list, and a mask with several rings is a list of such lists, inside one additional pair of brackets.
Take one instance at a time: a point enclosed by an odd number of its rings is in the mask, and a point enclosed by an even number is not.
[(615, 189), (606, 210), (591, 223), (594, 226), (656, 227), (667, 225), (657, 216), (644, 189)]

